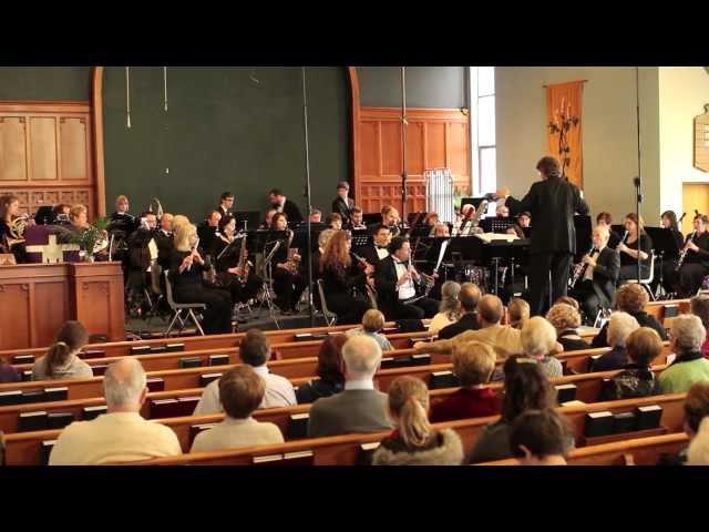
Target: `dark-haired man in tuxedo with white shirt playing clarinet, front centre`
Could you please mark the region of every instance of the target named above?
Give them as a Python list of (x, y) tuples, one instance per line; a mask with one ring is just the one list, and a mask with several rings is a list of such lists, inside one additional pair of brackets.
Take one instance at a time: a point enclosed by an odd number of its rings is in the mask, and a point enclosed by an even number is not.
[(392, 238), (390, 256), (376, 267), (377, 305), (387, 319), (432, 318), (439, 301), (429, 297), (417, 297), (417, 286), (422, 276), (411, 265), (411, 245), (405, 237)]

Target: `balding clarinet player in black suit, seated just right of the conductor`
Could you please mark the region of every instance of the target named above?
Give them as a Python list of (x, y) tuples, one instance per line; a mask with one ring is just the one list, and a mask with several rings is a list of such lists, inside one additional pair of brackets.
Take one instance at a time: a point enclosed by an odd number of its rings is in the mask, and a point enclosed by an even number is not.
[(620, 269), (618, 252), (608, 247), (608, 226), (597, 225), (593, 232), (593, 249), (582, 259), (584, 269), (571, 296), (579, 303), (586, 325), (593, 325), (600, 308), (613, 308), (616, 280)]

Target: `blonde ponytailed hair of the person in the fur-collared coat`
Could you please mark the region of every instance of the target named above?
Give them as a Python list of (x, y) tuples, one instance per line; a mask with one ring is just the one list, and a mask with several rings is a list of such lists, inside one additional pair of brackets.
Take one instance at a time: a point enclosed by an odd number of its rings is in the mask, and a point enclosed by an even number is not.
[(389, 387), (389, 411), (408, 448), (423, 447), (431, 434), (429, 389), (415, 377), (398, 377)]

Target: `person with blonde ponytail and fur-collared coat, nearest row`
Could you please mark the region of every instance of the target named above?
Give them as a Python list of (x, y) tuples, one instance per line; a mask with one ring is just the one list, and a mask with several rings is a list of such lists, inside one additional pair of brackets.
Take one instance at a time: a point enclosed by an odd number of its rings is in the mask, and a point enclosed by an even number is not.
[(463, 442), (453, 429), (429, 423), (429, 390), (421, 379), (399, 377), (389, 387), (394, 431), (374, 451), (374, 466), (460, 466)]

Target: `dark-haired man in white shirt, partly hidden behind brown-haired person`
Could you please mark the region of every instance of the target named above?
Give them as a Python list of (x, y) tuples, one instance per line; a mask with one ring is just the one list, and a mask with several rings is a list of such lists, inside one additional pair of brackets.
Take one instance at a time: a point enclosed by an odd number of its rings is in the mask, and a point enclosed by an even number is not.
[[(297, 405), (296, 392), (288, 379), (268, 371), (266, 362), (270, 359), (270, 341), (263, 331), (249, 329), (239, 345), (239, 358), (254, 368), (256, 375), (264, 379), (266, 392), (259, 408), (292, 407)], [(209, 382), (202, 392), (202, 399), (195, 408), (195, 416), (207, 416), (222, 412), (219, 401), (219, 381)]]

